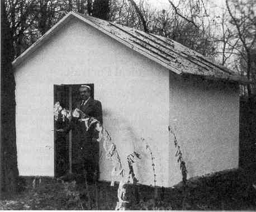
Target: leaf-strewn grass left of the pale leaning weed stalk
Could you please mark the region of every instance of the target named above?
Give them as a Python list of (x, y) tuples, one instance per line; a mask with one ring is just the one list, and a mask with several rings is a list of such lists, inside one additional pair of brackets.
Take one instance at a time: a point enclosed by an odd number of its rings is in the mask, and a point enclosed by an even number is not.
[[(42, 179), (41, 184), (37, 182), (35, 190), (32, 190), (30, 182), (22, 192), (6, 196), (4, 200), (0, 201), (0, 210), (96, 210), (94, 188), (94, 184), (88, 185), (91, 202), (88, 205), (88, 195), (84, 183), (75, 184), (73, 189), (72, 182), (61, 183), (56, 179)], [(97, 189), (98, 210), (114, 210), (117, 201), (117, 185), (110, 187), (110, 183), (100, 182)], [(77, 193), (80, 201), (76, 199)]]

